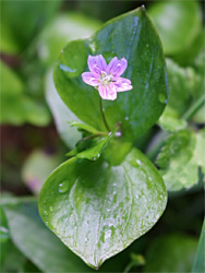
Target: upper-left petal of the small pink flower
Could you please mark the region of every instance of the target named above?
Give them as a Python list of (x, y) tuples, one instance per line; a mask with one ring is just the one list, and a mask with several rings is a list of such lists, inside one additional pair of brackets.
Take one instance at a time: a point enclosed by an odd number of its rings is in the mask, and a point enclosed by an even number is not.
[(102, 71), (106, 71), (107, 63), (102, 55), (88, 56), (87, 64), (93, 73), (101, 74)]

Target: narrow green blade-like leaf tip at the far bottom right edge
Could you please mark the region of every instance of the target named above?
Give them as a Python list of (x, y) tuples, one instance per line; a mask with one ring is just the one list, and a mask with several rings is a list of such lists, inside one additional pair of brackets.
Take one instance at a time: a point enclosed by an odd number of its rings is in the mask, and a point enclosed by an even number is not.
[(192, 273), (205, 272), (204, 246), (205, 246), (205, 221), (202, 227), (202, 233), (201, 233), (201, 237), (200, 237), (200, 241), (197, 246), (197, 251), (196, 251)]

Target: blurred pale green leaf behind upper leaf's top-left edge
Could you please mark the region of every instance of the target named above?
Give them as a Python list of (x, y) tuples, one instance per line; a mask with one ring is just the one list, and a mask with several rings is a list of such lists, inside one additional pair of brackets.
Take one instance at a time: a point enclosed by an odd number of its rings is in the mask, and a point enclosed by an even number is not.
[(81, 13), (61, 13), (43, 31), (37, 41), (39, 59), (50, 67), (61, 49), (73, 39), (87, 38), (100, 26), (100, 22)]

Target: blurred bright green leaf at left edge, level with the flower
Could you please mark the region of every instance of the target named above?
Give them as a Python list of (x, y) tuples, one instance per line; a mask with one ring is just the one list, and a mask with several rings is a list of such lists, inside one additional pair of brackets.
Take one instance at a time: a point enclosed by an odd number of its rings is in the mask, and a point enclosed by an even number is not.
[(23, 124), (31, 122), (45, 126), (50, 121), (48, 110), (40, 103), (25, 94), (25, 86), (21, 79), (7, 67), (1, 66), (1, 123)]

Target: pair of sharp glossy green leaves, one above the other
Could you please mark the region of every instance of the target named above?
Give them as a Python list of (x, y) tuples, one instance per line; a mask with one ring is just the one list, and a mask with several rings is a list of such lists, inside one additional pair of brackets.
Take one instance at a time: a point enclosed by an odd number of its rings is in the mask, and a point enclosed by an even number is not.
[[(128, 60), (123, 76), (133, 88), (116, 100), (102, 100), (109, 128), (120, 122), (118, 149), (123, 150), (158, 120), (168, 94), (161, 44), (143, 8), (109, 21), (89, 39), (71, 41), (57, 61), (55, 83), (63, 102), (82, 121), (105, 131), (99, 94), (81, 76), (88, 70), (87, 57), (100, 54), (107, 62), (114, 56)], [(167, 201), (160, 175), (140, 151), (132, 149), (117, 166), (108, 162), (104, 155), (67, 161), (50, 175), (39, 197), (44, 222), (96, 269), (145, 234)]]

